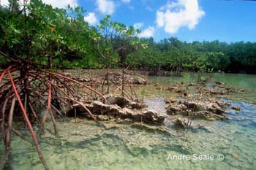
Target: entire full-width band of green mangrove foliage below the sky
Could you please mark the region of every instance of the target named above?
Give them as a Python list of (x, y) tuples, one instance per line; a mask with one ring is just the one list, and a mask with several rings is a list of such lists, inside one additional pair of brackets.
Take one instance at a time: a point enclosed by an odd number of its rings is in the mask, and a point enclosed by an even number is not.
[(171, 37), (160, 42), (138, 39), (135, 28), (102, 19), (89, 26), (80, 7), (53, 8), (31, 0), (27, 13), (17, 0), (0, 7), (0, 65), (7, 58), (65, 69), (130, 66), (132, 69), (256, 73), (256, 43), (181, 42)]

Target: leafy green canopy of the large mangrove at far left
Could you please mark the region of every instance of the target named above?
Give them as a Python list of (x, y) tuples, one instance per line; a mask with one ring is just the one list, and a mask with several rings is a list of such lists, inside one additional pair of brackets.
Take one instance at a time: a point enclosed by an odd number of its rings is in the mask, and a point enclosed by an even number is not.
[(83, 20), (84, 12), (80, 7), (53, 8), (39, 0), (16, 13), (1, 7), (1, 52), (41, 66), (50, 59), (53, 66), (63, 68), (97, 67), (92, 30)]

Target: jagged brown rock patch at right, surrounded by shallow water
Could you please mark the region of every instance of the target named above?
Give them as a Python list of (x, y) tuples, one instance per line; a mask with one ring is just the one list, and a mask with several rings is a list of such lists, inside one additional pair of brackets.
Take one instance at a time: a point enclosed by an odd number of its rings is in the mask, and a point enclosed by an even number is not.
[(240, 110), (239, 107), (231, 106), (216, 99), (217, 97), (230, 93), (246, 93), (243, 88), (234, 88), (223, 82), (181, 83), (166, 88), (166, 90), (180, 93), (183, 98), (178, 101), (174, 98), (166, 100), (168, 115), (184, 115), (206, 119), (227, 119), (227, 107)]

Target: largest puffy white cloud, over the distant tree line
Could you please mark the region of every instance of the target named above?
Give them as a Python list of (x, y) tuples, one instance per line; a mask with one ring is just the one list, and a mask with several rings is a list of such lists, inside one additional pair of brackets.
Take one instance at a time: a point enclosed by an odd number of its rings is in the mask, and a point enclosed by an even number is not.
[(181, 27), (195, 28), (204, 15), (197, 0), (169, 2), (157, 11), (157, 26), (164, 27), (169, 34), (176, 34)]

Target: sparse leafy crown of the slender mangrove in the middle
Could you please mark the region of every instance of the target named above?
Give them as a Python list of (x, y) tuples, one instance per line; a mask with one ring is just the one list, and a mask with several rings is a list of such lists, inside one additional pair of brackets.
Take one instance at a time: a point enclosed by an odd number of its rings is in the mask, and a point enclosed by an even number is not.
[(110, 15), (107, 15), (100, 20), (92, 39), (97, 43), (98, 51), (108, 67), (125, 63), (127, 55), (140, 43), (138, 33), (140, 31), (132, 26), (127, 27), (123, 23), (111, 21)]

